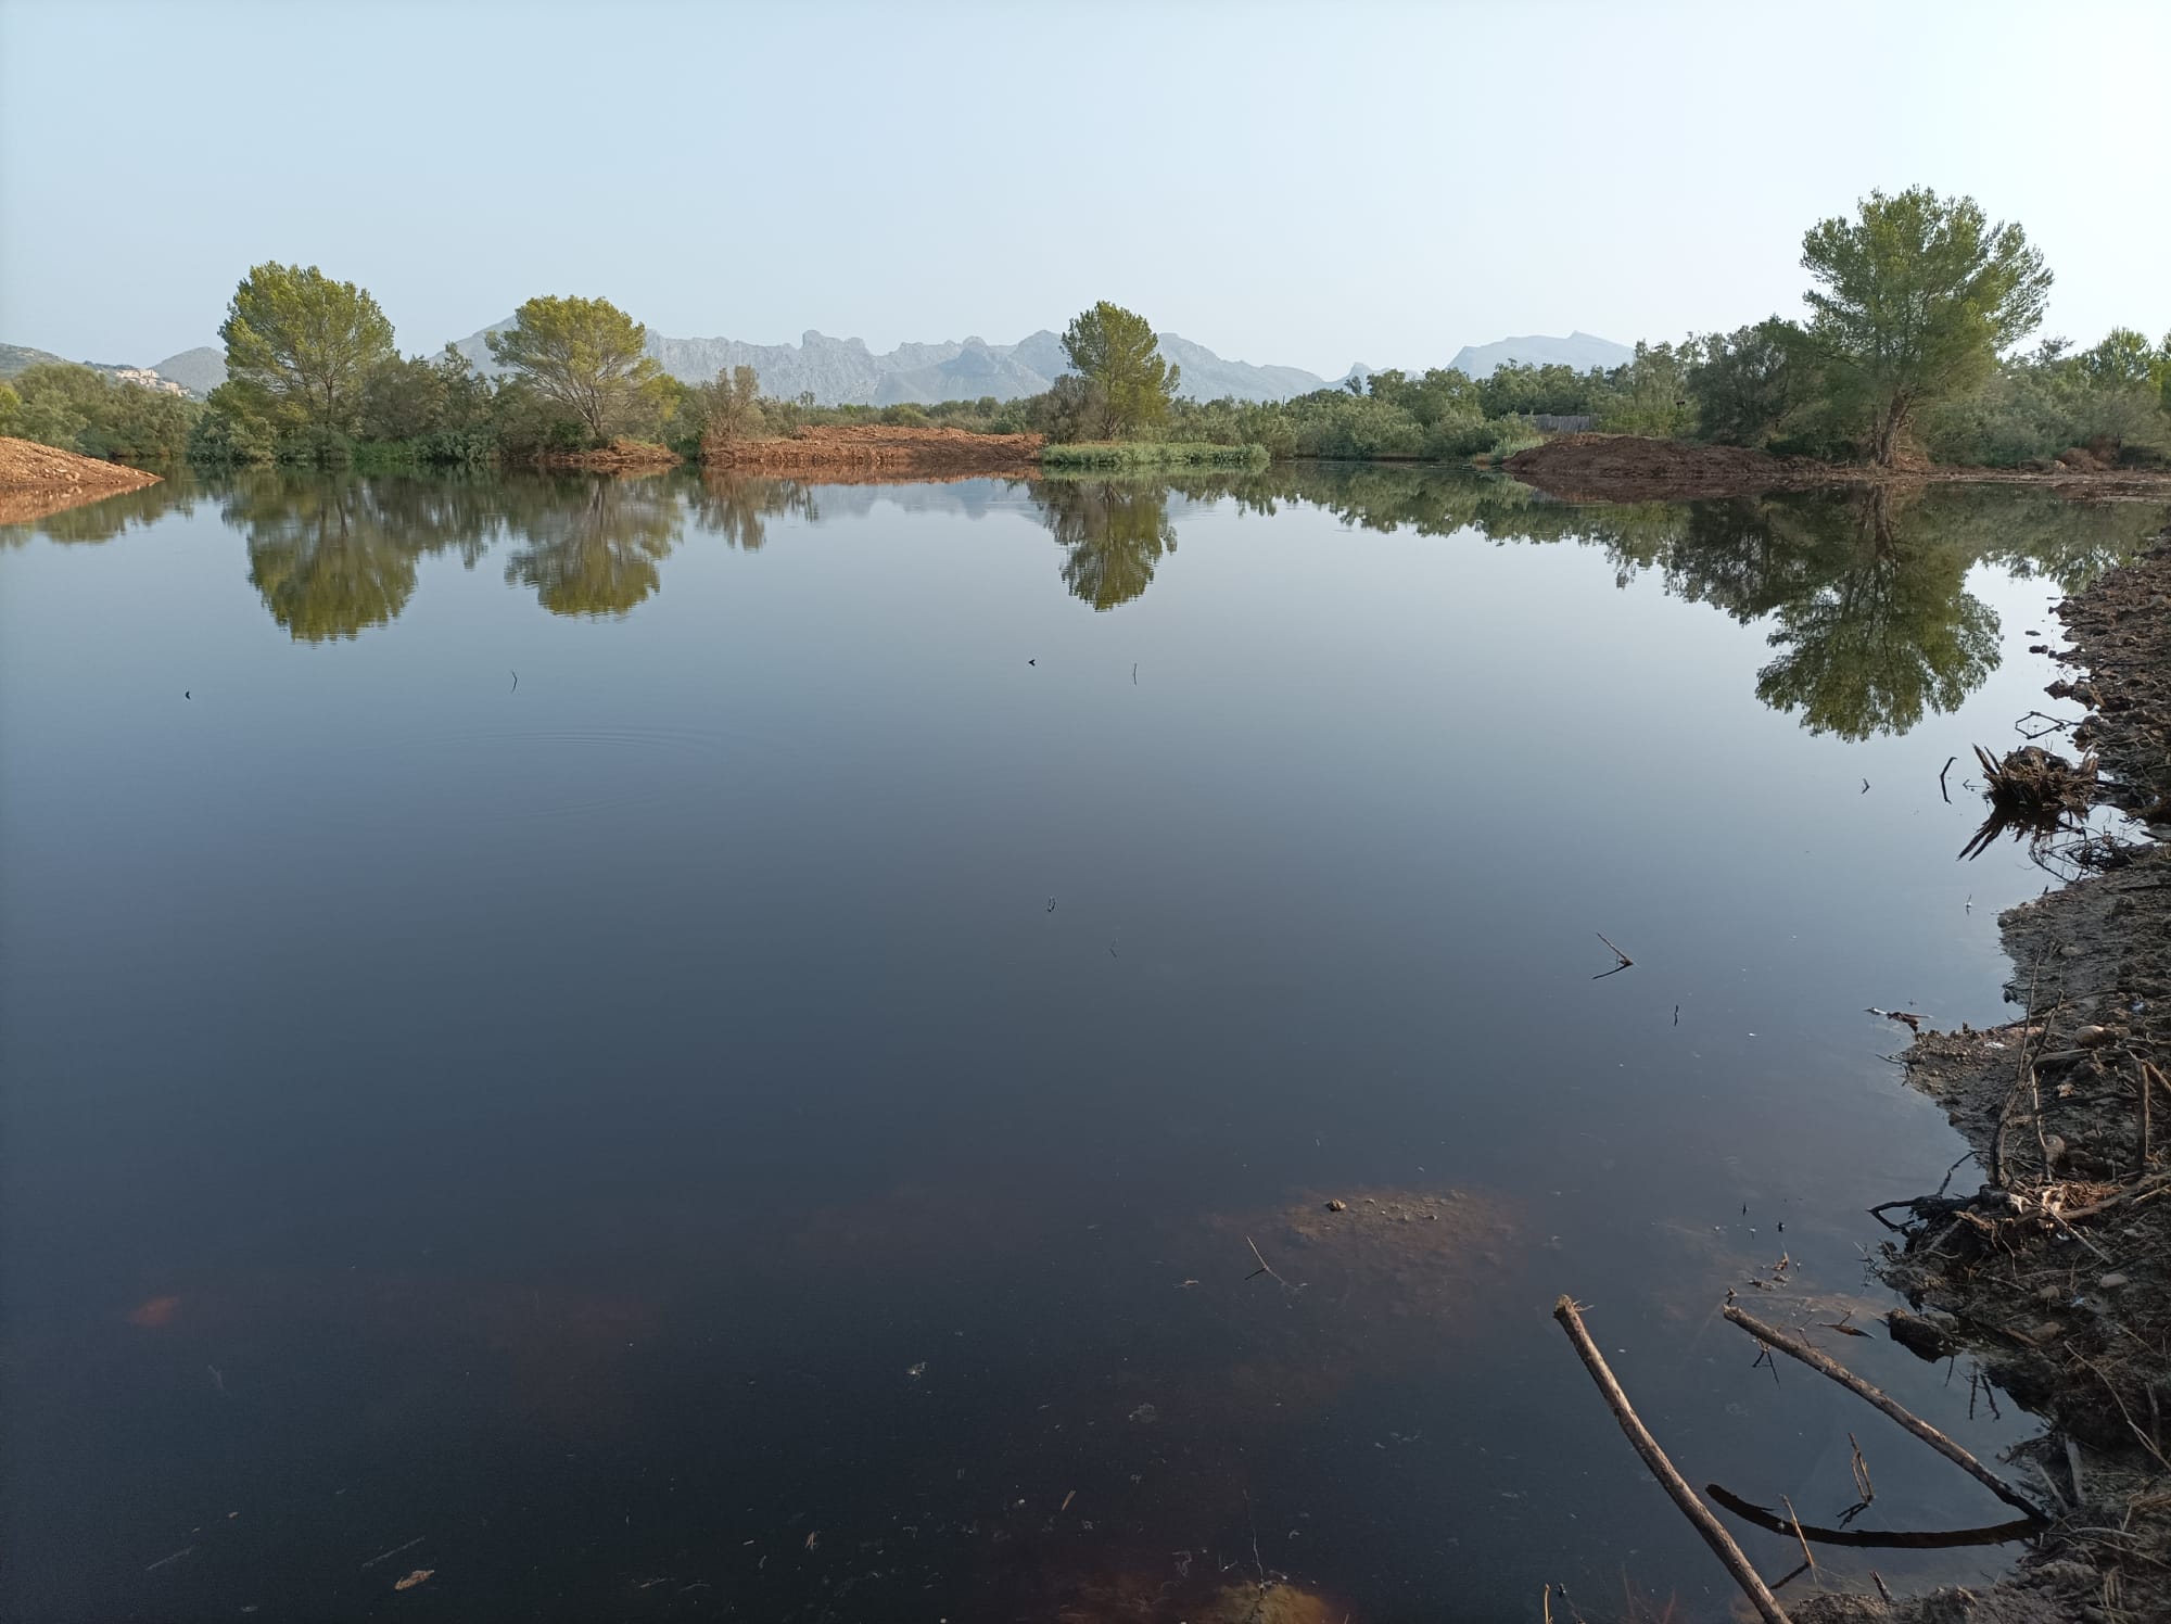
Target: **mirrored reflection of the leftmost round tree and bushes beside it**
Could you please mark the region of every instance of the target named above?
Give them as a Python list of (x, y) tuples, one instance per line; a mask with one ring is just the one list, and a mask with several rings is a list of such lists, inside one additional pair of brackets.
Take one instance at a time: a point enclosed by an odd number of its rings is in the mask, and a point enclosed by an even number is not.
[(488, 486), (443, 478), (252, 473), (226, 491), (250, 582), (297, 643), (389, 625), (415, 593), (415, 560), (458, 551), (473, 569), (499, 523)]

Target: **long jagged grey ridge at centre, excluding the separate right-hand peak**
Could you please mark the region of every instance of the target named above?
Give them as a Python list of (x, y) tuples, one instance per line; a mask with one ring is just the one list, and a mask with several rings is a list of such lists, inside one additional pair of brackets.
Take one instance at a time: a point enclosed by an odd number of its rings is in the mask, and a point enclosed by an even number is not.
[[(480, 371), (497, 373), (484, 332), (504, 332), (499, 321), (454, 345)], [(1287, 399), (1324, 380), (1300, 367), (1255, 367), (1246, 360), (1222, 360), (1203, 343), (1177, 332), (1164, 332), (1161, 354), (1183, 369), (1179, 391), (1192, 399)], [(875, 354), (864, 339), (831, 339), (805, 332), (799, 343), (745, 343), (740, 339), (671, 339), (649, 332), (649, 354), (666, 373), (688, 384), (708, 382), (723, 367), (753, 367), (762, 393), (779, 399), (814, 395), (818, 406), (903, 406), (938, 399), (1018, 399), (1038, 395), (1070, 371), (1064, 343), (1042, 330), (1018, 343), (986, 339), (944, 339), (940, 343), (901, 343)], [(163, 367), (161, 367), (163, 371)]]

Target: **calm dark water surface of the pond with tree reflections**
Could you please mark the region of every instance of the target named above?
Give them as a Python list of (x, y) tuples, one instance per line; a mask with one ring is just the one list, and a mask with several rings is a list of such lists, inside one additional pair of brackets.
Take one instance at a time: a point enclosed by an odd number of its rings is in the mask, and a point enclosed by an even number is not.
[(1960, 1144), (1865, 1005), (1997, 1018), (2045, 884), (1939, 769), (2164, 519), (1277, 469), (0, 532), (7, 1615), (1722, 1617), (1559, 1292), (1696, 1483), (1832, 1522), (1852, 1429), (1856, 1526), (2002, 1522), (1715, 1305), (1887, 1303), (1863, 1209)]

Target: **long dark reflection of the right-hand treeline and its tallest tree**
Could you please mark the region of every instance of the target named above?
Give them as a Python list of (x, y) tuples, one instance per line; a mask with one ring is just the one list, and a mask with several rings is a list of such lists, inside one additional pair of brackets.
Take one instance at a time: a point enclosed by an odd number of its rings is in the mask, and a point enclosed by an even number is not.
[(1300, 467), (1179, 482), (1272, 512), (1313, 502), (1366, 530), (1474, 530), (1491, 541), (1604, 549), (1620, 582), (1732, 619), (1769, 619), (1759, 697), (1813, 732), (1867, 738), (1943, 712), (1997, 669), (1997, 614), (1965, 582), (1978, 562), (2078, 591), (2162, 528), (2160, 504), (2078, 504), (1995, 486), (1863, 489), (1730, 502), (1567, 504), (1435, 469)]

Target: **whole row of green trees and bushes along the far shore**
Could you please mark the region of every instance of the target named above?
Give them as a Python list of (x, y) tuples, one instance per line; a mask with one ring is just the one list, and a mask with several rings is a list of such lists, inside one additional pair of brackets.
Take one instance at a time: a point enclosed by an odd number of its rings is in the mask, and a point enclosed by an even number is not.
[(773, 399), (751, 367), (686, 384), (647, 354), (647, 328), (588, 297), (528, 300), (486, 337), (497, 376), (452, 345), (402, 356), (367, 289), (271, 263), (234, 289), (219, 328), (228, 382), (206, 402), (89, 367), (33, 367), (0, 384), (0, 434), (202, 465), (534, 462), (623, 441), (701, 456), (818, 423), (1038, 432), (1133, 452), (1259, 447), (1277, 460), (1483, 460), (1539, 443), (1541, 419), (1572, 417), (1887, 467), (2171, 462), (2171, 334), (2149, 343), (2117, 328), (2089, 350), (2062, 339), (2023, 350), (2052, 274), (2019, 226), (1989, 221), (1973, 198), (1871, 193), (1852, 219), (1806, 232), (1802, 267), (1806, 319), (1639, 343), (1609, 369), (1379, 371), (1285, 402), (1194, 402), (1179, 397), (1179, 369), (1146, 317), (1103, 302), (1064, 332), (1072, 371), (1042, 395), (877, 408)]

